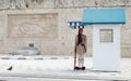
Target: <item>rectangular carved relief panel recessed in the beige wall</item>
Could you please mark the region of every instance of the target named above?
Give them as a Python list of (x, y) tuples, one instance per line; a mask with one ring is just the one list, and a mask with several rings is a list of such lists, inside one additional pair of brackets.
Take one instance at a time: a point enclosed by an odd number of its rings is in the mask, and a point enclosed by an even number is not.
[(57, 38), (58, 14), (8, 15), (9, 38)]

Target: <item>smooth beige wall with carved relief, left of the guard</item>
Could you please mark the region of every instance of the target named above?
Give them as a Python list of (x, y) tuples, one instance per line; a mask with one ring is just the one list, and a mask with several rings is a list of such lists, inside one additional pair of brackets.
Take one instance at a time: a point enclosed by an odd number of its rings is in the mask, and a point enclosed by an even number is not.
[(71, 55), (78, 31), (67, 22), (82, 21), (82, 9), (8, 10), (0, 19), (1, 54), (34, 43), (45, 55)]

